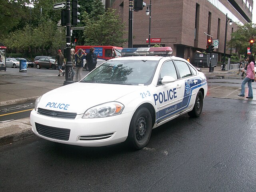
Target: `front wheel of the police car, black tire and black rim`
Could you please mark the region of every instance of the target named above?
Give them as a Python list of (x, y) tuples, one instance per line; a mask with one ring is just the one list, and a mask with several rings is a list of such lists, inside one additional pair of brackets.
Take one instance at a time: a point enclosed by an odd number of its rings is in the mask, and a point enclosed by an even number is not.
[(127, 141), (133, 148), (140, 150), (148, 144), (151, 132), (151, 114), (147, 108), (139, 108), (132, 116)]

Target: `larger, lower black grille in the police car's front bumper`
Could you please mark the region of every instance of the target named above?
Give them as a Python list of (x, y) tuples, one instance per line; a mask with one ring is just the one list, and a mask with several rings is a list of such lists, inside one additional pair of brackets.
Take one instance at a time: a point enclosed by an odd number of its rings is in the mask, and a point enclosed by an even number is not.
[(58, 139), (63, 141), (69, 140), (70, 135), (70, 129), (63, 129), (63, 128), (56, 128), (56, 127), (50, 127), (46, 125), (42, 125), (39, 123), (36, 124), (36, 131), (38, 134), (52, 138), (52, 139)]

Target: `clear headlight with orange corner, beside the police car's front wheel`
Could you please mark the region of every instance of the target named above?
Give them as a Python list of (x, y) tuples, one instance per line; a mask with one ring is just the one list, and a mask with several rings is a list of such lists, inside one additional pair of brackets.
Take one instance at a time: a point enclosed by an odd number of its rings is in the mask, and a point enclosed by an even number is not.
[(121, 114), (124, 110), (124, 105), (119, 102), (109, 102), (94, 106), (86, 112), (82, 118), (98, 118), (98, 117), (108, 117), (113, 115)]

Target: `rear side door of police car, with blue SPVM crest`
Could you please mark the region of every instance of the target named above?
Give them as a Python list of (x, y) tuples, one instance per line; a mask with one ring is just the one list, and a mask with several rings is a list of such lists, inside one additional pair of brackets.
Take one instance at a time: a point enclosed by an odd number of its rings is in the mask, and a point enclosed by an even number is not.
[(182, 60), (175, 60), (178, 78), (183, 87), (182, 106), (180, 112), (184, 112), (194, 106), (194, 100), (198, 92), (198, 78), (196, 72), (192, 70), (189, 64)]

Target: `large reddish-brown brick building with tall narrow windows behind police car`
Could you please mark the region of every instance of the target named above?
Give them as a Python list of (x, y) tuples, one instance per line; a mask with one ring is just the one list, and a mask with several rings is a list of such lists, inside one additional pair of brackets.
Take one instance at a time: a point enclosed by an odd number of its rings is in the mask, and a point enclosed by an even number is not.
[[(150, 0), (144, 0), (148, 5)], [(118, 11), (128, 31), (129, 0), (106, 0), (106, 8)], [(196, 50), (204, 51), (208, 36), (219, 40), (218, 60), (224, 53), (226, 14), (233, 24), (227, 27), (227, 42), (231, 33), (236, 31), (235, 22), (252, 22), (253, 0), (152, 0), (151, 38), (160, 39), (162, 46), (171, 46), (173, 55), (194, 58)], [(146, 7), (133, 14), (133, 47), (147, 47), (149, 16)], [(229, 21), (228, 21), (229, 23)], [(206, 33), (206, 34), (204, 34)], [(124, 38), (128, 38), (125, 36)], [(151, 46), (155, 43), (151, 42)], [(124, 47), (128, 47), (125, 44)], [(226, 56), (234, 49), (226, 47)]]

